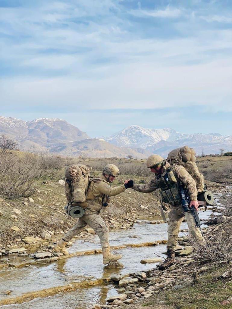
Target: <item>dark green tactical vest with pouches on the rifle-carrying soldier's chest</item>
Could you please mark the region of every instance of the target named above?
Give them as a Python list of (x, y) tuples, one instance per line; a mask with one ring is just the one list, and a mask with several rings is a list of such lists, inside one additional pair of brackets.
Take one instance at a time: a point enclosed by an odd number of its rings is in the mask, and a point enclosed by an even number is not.
[(157, 188), (160, 189), (162, 201), (171, 205), (181, 204), (181, 196), (177, 181), (173, 171), (168, 169), (164, 176), (157, 178)]

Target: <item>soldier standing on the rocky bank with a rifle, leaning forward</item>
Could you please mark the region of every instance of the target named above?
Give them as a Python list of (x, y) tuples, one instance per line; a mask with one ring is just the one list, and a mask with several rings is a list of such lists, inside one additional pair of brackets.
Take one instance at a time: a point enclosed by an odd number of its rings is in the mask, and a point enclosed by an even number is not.
[[(167, 191), (170, 190), (167, 190), (165, 193), (164, 188), (160, 187), (161, 181), (164, 179), (164, 176), (167, 175), (166, 172), (168, 173), (173, 172), (174, 180), (175, 179), (177, 180), (176, 186), (178, 183), (180, 183), (188, 191), (188, 194), (191, 199), (189, 207), (194, 206), (195, 209), (197, 210), (198, 202), (197, 202), (196, 184), (193, 178), (190, 176), (190, 174), (186, 171), (186, 169), (183, 166), (177, 164), (171, 166), (170, 163), (166, 162), (166, 160), (164, 160), (161, 156), (151, 155), (147, 159), (147, 167), (150, 168), (151, 171), (156, 174), (156, 176), (148, 184), (134, 184), (132, 189), (144, 193), (149, 193), (157, 189), (160, 189), (161, 196), (163, 197), (166, 193), (169, 194), (169, 192)], [(170, 173), (170, 176), (173, 174)], [(171, 176), (170, 178), (173, 178), (173, 176)], [(192, 213), (190, 211), (184, 212), (183, 210), (178, 190), (173, 189), (172, 193), (174, 195), (174, 199), (170, 198), (168, 201), (169, 204), (171, 205), (171, 210), (168, 215), (169, 220), (168, 220), (167, 258), (160, 265), (161, 270), (169, 267), (175, 262), (174, 249), (175, 246), (177, 245), (179, 228), (184, 217), (186, 218), (188, 224), (189, 233), (198, 241), (200, 242), (203, 241), (200, 229), (196, 227)], [(167, 197), (167, 195), (165, 196)], [(165, 202), (167, 202), (167, 200)]]

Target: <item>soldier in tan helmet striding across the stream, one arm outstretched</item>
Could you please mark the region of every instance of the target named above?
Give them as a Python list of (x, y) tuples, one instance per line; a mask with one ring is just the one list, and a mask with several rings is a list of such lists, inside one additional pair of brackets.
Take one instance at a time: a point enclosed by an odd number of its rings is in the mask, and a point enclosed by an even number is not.
[(108, 164), (104, 167), (102, 174), (91, 180), (86, 200), (88, 206), (84, 210), (84, 215), (78, 219), (76, 225), (54, 246), (54, 251), (68, 255), (65, 245), (89, 225), (100, 238), (103, 264), (121, 259), (122, 256), (120, 254), (113, 255), (110, 253), (109, 231), (104, 220), (99, 215), (104, 206), (107, 206), (110, 202), (110, 196), (120, 194), (133, 186), (133, 180), (127, 180), (125, 184), (111, 188), (109, 183), (112, 183), (118, 175), (118, 167), (114, 164)]

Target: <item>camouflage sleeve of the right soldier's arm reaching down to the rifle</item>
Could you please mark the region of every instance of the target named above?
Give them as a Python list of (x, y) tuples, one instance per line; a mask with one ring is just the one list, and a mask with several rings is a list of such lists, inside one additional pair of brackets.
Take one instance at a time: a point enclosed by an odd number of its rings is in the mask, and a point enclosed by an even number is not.
[(179, 180), (181, 180), (188, 190), (188, 194), (190, 196), (191, 201), (197, 201), (197, 188), (195, 180), (192, 176), (186, 171), (183, 166), (176, 165), (175, 173), (178, 176)]

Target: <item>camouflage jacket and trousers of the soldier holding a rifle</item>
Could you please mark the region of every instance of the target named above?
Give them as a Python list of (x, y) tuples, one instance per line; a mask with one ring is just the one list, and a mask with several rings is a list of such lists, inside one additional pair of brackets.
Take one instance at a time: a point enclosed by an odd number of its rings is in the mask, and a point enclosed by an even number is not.
[[(187, 189), (191, 201), (197, 201), (197, 189), (196, 183), (190, 174), (186, 171), (183, 166), (174, 164), (170, 165), (168, 162), (165, 164), (165, 169), (170, 169), (173, 171), (177, 180), (180, 180), (184, 187)], [(161, 176), (164, 176), (163, 173)], [(153, 192), (157, 189), (157, 176), (153, 178), (148, 184), (134, 184), (132, 189), (149, 193)], [(194, 217), (191, 212), (184, 212), (182, 205), (171, 205), (171, 210), (168, 215), (168, 242), (167, 242), (167, 250), (173, 251), (175, 246), (177, 245), (178, 234), (180, 224), (183, 221), (183, 218), (186, 218), (189, 233), (197, 240), (202, 241), (203, 237), (201, 235), (200, 229), (196, 227)]]

